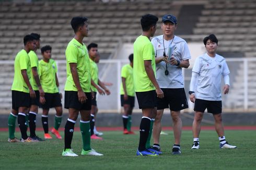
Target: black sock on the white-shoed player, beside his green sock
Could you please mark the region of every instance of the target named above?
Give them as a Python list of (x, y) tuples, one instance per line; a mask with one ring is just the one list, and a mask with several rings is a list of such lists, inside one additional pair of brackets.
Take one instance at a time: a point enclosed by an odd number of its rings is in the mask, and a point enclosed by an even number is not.
[(65, 131), (65, 136), (64, 136), (65, 150), (71, 149), (71, 142), (72, 142), (72, 138), (73, 138), (74, 126), (75, 126), (75, 123), (73, 123), (67, 119), (67, 122), (65, 125), (65, 130), (64, 130)]

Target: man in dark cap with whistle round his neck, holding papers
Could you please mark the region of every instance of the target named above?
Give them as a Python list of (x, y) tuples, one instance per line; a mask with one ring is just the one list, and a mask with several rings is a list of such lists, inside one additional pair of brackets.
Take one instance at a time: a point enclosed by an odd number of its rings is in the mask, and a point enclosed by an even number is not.
[[(175, 16), (171, 14), (164, 15), (161, 29), (163, 34), (153, 38), (151, 42), (156, 54), (156, 79), (160, 88), (164, 91), (165, 97), (162, 99), (157, 98), (157, 116), (153, 127), (154, 145), (152, 148), (159, 154), (162, 153), (159, 145), (161, 118), (164, 109), (170, 108), (174, 135), (172, 154), (181, 154), (182, 121), (180, 111), (188, 108), (182, 68), (189, 67), (191, 55), (187, 42), (174, 35), (174, 31), (177, 29)], [(169, 54), (171, 52), (172, 54)]]

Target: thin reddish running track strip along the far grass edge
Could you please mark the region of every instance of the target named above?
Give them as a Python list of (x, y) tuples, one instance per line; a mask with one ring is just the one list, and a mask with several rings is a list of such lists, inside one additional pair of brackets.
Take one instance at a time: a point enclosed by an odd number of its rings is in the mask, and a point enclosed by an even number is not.
[[(51, 128), (49, 128), (51, 129)], [(224, 126), (225, 130), (256, 130), (256, 126)], [(29, 130), (29, 128), (28, 128)], [(60, 128), (64, 131), (64, 128)], [(123, 127), (97, 127), (98, 131), (122, 131)], [(132, 130), (138, 130), (138, 127), (133, 127)], [(162, 130), (172, 130), (172, 127), (162, 127)], [(182, 130), (192, 130), (192, 126), (183, 126)], [(214, 126), (201, 126), (201, 130), (215, 130)], [(0, 131), (8, 131), (8, 128), (0, 128)], [(16, 128), (19, 131), (19, 128)], [(43, 131), (43, 128), (37, 128), (37, 131)], [(75, 131), (80, 131), (79, 127), (75, 127)]]

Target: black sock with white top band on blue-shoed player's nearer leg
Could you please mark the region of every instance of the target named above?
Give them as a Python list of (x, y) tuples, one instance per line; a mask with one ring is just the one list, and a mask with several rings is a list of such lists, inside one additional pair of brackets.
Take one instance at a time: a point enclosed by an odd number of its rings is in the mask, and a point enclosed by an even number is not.
[(141, 125), (139, 125), (139, 144), (138, 150), (144, 151), (146, 149), (146, 142), (150, 130), (151, 119), (148, 117), (142, 117)]

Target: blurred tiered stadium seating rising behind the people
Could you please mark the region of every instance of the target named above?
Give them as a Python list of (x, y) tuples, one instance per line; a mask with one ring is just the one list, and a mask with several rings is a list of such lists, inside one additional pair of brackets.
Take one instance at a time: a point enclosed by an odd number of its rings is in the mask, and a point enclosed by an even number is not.
[[(200, 42), (210, 33), (219, 39), (218, 53), (225, 57), (256, 57), (256, 0), (207, 0), (207, 1), (120, 1), (103, 3), (101, 1), (32, 1), (32, 3), (0, 1), (0, 101), (1, 108), (9, 110), (10, 84), (13, 79), (13, 63), (17, 52), (22, 48), (25, 34), (41, 34), (41, 44), (53, 47), (54, 59), (65, 59), (65, 48), (74, 33), (69, 24), (74, 16), (89, 18), (89, 37), (85, 43), (99, 44), (101, 58), (106, 59), (119, 47), (120, 41), (132, 43), (141, 34), (139, 20), (146, 13), (159, 17), (173, 14), (178, 17), (177, 34), (188, 42)], [(158, 25), (158, 28), (159, 25)], [(185, 28), (185, 29), (184, 29)], [(158, 29), (156, 35), (161, 34)], [(39, 54), (39, 53), (38, 53)], [(41, 57), (40, 55), (38, 55)], [(249, 68), (253, 68), (253, 62)], [(252, 65), (252, 66), (251, 66)], [(238, 73), (242, 73), (238, 65)], [(59, 64), (62, 86), (65, 82), (65, 64)], [(238, 71), (240, 70), (240, 71)], [(250, 81), (256, 80), (251, 77)], [(239, 77), (239, 76), (236, 76)], [(241, 92), (241, 78), (234, 78), (234, 93)], [(251, 84), (251, 83), (250, 83)], [(9, 86), (9, 88), (8, 88)], [(249, 90), (252, 90), (249, 86)], [(232, 91), (230, 93), (233, 93)], [(230, 95), (232, 96), (232, 95)], [(242, 95), (241, 95), (242, 96)], [(255, 95), (254, 95), (255, 96)], [(234, 97), (230, 97), (230, 100)], [(241, 97), (242, 98), (242, 97)], [(249, 96), (250, 101), (253, 97)], [(239, 99), (242, 101), (243, 99)], [(234, 103), (234, 100), (231, 100)], [(235, 104), (240, 107), (242, 102)], [(230, 103), (229, 103), (230, 105)], [(236, 106), (237, 105), (237, 106)], [(253, 107), (253, 106), (250, 106)]]

